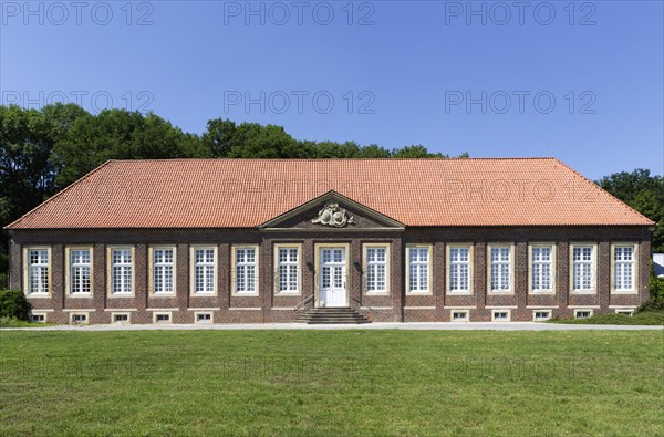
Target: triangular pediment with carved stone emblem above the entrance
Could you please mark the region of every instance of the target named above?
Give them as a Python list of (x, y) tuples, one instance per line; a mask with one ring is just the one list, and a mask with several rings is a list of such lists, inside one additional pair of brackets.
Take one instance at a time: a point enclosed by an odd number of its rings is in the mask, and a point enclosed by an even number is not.
[(336, 191), (328, 191), (261, 226), (261, 230), (403, 230), (405, 226)]

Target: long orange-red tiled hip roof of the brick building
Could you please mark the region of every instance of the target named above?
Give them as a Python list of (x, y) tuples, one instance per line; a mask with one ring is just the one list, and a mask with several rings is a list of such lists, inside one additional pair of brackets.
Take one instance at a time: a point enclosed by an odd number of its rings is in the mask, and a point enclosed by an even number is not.
[(406, 226), (652, 226), (554, 158), (110, 160), (8, 229), (253, 228), (330, 190)]

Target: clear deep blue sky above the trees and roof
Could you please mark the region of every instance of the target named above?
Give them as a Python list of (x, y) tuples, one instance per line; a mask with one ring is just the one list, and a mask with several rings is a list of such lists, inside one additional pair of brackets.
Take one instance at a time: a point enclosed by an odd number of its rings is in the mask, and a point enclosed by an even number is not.
[(2, 104), (664, 173), (662, 1), (0, 1)]

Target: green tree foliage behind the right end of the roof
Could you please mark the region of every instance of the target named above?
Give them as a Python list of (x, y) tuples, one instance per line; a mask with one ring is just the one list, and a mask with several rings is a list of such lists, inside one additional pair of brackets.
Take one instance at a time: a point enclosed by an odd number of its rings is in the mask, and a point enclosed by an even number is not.
[(596, 184), (657, 223), (653, 252), (664, 252), (664, 177), (637, 168), (605, 176)]

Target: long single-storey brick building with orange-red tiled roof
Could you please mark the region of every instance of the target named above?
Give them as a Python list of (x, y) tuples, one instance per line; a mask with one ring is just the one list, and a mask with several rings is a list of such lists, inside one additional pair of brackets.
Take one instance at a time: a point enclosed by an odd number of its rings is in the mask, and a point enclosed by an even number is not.
[(553, 158), (174, 159), (110, 160), (6, 229), (38, 321), (499, 322), (631, 313), (654, 226)]

